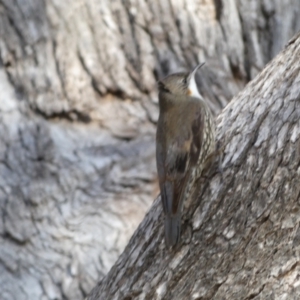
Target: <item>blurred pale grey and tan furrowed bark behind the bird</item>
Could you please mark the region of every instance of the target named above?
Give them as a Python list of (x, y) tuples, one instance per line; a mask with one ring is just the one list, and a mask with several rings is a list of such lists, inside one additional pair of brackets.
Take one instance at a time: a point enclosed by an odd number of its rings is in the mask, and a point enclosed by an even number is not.
[(298, 29), (298, 0), (0, 0), (1, 300), (108, 272), (157, 194), (159, 77), (205, 60), (217, 114)]

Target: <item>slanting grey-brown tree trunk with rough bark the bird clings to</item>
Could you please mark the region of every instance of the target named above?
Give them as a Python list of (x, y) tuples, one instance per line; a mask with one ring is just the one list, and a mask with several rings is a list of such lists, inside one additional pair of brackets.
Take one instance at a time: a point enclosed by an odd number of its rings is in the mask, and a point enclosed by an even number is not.
[(181, 247), (160, 199), (89, 300), (300, 298), (300, 34), (218, 117), (223, 173), (195, 190)]

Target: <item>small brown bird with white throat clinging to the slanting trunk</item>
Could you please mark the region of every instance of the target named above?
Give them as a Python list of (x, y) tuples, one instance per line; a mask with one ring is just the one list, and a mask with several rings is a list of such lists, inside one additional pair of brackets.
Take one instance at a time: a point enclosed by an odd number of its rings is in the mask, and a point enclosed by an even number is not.
[(179, 242), (183, 203), (215, 153), (214, 120), (195, 80), (202, 65), (158, 82), (156, 163), (167, 247)]

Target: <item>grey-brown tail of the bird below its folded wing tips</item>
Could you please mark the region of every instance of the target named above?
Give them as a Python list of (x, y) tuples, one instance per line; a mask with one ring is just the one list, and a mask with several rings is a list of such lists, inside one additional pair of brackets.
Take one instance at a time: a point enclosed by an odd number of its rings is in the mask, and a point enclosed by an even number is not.
[(180, 239), (180, 214), (165, 216), (165, 240), (167, 248), (177, 245)]

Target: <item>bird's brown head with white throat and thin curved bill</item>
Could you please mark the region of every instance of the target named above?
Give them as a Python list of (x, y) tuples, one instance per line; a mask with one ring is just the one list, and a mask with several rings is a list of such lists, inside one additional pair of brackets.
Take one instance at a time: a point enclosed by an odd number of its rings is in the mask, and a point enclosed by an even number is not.
[(198, 65), (189, 73), (175, 73), (168, 75), (158, 82), (160, 94), (173, 94), (176, 96), (191, 96), (202, 99), (200, 95), (195, 75), (196, 72), (204, 65)]

